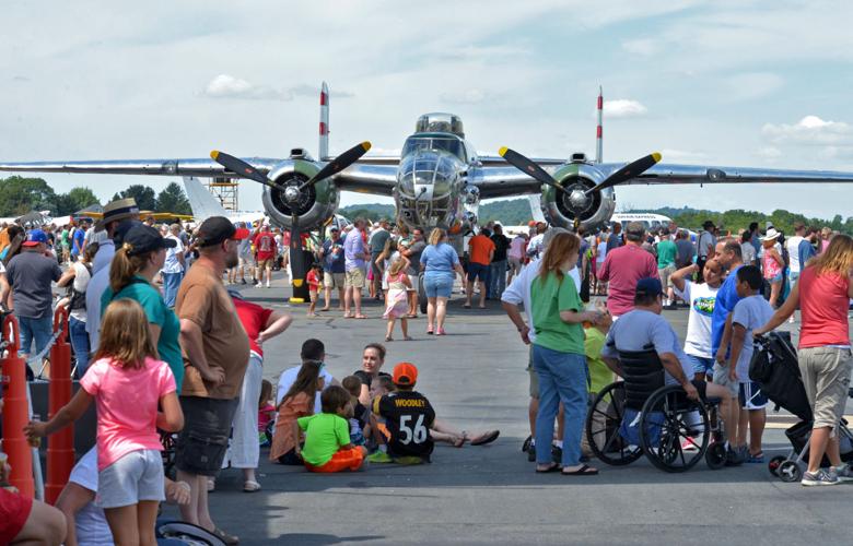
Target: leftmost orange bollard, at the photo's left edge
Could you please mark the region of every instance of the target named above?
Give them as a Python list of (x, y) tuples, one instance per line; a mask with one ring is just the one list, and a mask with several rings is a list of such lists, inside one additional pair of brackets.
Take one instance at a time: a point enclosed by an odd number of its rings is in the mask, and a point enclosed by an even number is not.
[(3, 341), (8, 341), (8, 356), (2, 358), (3, 379), (3, 451), (9, 455), (12, 475), (9, 485), (21, 495), (33, 498), (33, 455), (24, 437), (24, 426), (30, 420), (30, 405), (26, 401), (26, 371), (24, 359), (17, 356), (20, 337), (17, 320), (9, 314), (3, 320)]

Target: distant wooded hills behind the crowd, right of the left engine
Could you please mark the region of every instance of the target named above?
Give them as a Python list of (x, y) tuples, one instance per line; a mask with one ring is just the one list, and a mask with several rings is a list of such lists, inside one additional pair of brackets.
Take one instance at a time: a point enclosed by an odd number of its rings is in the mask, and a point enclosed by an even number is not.
[[(361, 216), (371, 221), (376, 221), (381, 217), (393, 218), (395, 215), (395, 206), (390, 204), (378, 203), (359, 204), (344, 206), (339, 212), (349, 218)], [(767, 222), (771, 222), (778, 229), (781, 229), (786, 234), (792, 234), (794, 232), (794, 223), (803, 222), (807, 226), (828, 226), (836, 232), (853, 235), (853, 216), (843, 218), (840, 214), (837, 214), (836, 217), (831, 219), (827, 219), (809, 218), (802, 214), (784, 211), (781, 209), (773, 211), (771, 214), (764, 214), (761, 212), (744, 210), (725, 212), (705, 211), (690, 209), (689, 206), (681, 209), (663, 206), (661, 209), (642, 209), (620, 212), (646, 212), (663, 214), (664, 216), (673, 218), (679, 226), (693, 230), (699, 230), (702, 226), (702, 223), (706, 219), (710, 219), (717, 225), (722, 225), (724, 230), (728, 230), (735, 234), (739, 228), (748, 227), (751, 222), (758, 222), (761, 229), (764, 228)], [(481, 204), (480, 223), (486, 223), (492, 219), (507, 226), (527, 224), (530, 219), (533, 219), (533, 216), (530, 215), (530, 205), (527, 199), (507, 199)]]

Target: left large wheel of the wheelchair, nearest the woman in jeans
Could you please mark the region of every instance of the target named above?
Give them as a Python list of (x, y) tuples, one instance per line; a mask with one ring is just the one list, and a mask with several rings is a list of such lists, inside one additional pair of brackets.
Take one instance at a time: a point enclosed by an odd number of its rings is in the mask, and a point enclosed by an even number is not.
[(586, 415), (585, 430), (589, 449), (599, 460), (614, 466), (631, 464), (643, 454), (640, 446), (629, 446), (619, 435), (623, 415), (624, 383), (622, 381), (605, 387), (595, 396)]

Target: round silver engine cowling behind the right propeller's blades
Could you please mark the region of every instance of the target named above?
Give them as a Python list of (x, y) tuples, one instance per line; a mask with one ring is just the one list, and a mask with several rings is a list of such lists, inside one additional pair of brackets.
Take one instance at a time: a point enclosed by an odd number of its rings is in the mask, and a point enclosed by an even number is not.
[(552, 176), (566, 191), (542, 186), (542, 214), (551, 225), (573, 229), (575, 219), (579, 219), (581, 227), (591, 232), (610, 221), (616, 210), (614, 189), (606, 188), (588, 195), (584, 194), (605, 178), (595, 166), (563, 165)]

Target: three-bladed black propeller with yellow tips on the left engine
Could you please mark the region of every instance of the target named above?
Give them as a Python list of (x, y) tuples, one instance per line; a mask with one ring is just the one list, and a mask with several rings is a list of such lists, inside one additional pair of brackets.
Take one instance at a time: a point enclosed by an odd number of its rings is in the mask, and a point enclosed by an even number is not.
[(302, 197), (302, 192), (315, 183), (317, 183), (320, 180), (324, 180), (332, 175), (336, 175), (340, 173), (341, 170), (346, 169), (359, 158), (367, 153), (367, 151), (371, 149), (371, 143), (365, 141), (360, 144), (357, 144), (355, 146), (347, 150), (342, 154), (335, 157), (332, 161), (326, 164), (325, 167), (319, 169), (316, 175), (311, 177), (309, 180), (304, 182), (303, 185), (296, 187), (296, 186), (288, 186), (288, 187), (281, 187), (270, 180), (265, 174), (257, 170), (255, 167), (249, 165), (248, 163), (244, 162), (243, 159), (238, 157), (234, 157), (233, 155), (226, 154), (224, 152), (218, 152), (212, 151), (210, 153), (211, 159), (219, 163), (226, 169), (233, 171), (235, 175), (247, 178), (249, 180), (254, 180), (256, 182), (262, 183), (264, 186), (267, 186), (269, 188), (272, 188), (273, 190), (280, 190), (282, 191), (284, 200), (291, 205), (291, 211), (293, 211), (293, 214), (291, 215), (291, 223), (290, 223), (290, 268), (292, 273), (292, 282), (294, 287), (294, 297), (296, 296), (296, 292), (302, 292), (302, 300), (306, 300), (306, 294), (304, 293), (304, 286), (305, 286), (305, 276), (308, 273), (308, 264), (305, 260), (305, 254), (302, 249), (302, 229), (300, 228), (300, 216), (296, 213), (296, 205), (300, 202), (300, 198)]

